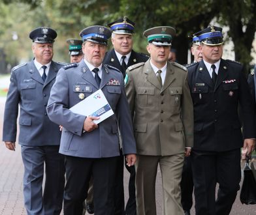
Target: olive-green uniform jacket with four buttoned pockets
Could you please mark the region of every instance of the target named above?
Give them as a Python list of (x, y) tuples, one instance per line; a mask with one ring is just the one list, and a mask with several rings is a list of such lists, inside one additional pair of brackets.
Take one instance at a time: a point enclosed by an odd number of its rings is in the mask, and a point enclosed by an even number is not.
[(168, 62), (161, 87), (149, 59), (130, 66), (125, 81), (138, 154), (168, 156), (193, 147), (193, 103), (184, 66)]

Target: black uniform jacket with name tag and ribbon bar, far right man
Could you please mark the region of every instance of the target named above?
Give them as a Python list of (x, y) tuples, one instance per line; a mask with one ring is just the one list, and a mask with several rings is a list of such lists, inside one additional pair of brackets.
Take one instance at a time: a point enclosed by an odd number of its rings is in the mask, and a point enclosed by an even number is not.
[(193, 149), (221, 152), (242, 147), (242, 124), (244, 138), (255, 137), (254, 110), (242, 65), (221, 59), (215, 86), (203, 61), (187, 69), (194, 107)]

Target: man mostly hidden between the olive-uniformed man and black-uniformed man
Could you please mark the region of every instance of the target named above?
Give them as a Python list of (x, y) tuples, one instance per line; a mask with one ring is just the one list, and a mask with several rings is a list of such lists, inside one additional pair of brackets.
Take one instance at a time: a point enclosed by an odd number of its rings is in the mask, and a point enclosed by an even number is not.
[[(200, 42), (197, 36), (189, 37), (192, 37), (191, 53), (194, 56), (194, 63), (192, 64), (195, 64), (202, 60), (202, 54), (200, 53), (199, 49)], [(186, 67), (189, 67), (192, 64), (187, 64)], [(191, 168), (191, 156), (185, 157), (180, 188), (182, 190), (182, 207), (184, 209), (184, 213), (185, 215), (190, 215), (190, 209), (193, 205), (194, 189), (193, 174)]]

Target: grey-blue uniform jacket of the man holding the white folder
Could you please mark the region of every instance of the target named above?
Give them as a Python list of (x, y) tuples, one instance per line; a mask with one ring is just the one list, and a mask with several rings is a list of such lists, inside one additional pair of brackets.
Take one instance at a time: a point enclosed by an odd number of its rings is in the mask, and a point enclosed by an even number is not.
[(82, 158), (119, 156), (118, 125), (123, 140), (123, 154), (136, 153), (123, 76), (114, 69), (103, 66), (100, 88), (115, 114), (100, 122), (99, 128), (92, 132), (83, 131), (86, 117), (72, 113), (69, 108), (81, 101), (81, 94), (86, 98), (99, 89), (95, 78), (84, 61), (59, 70), (47, 111), (52, 121), (63, 125), (59, 149), (61, 154)]

